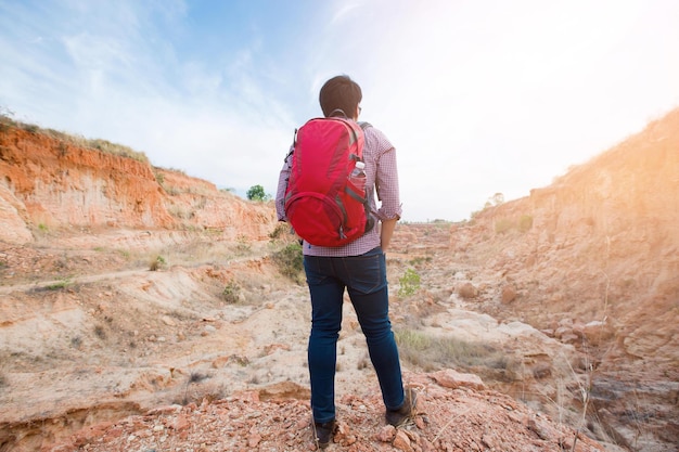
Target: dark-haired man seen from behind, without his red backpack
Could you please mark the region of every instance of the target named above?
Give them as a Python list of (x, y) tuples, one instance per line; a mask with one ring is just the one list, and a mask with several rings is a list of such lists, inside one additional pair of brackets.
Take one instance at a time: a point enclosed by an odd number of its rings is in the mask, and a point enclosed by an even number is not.
[[(321, 88), (319, 100), (325, 117), (342, 116), (357, 121), (361, 113), (361, 89), (345, 75), (328, 80)], [(417, 403), (414, 390), (403, 390), (398, 349), (388, 317), (384, 253), (389, 247), (401, 215), (396, 150), (374, 127), (364, 128), (364, 138), (366, 190), (371, 215), (380, 220), (381, 227), (338, 247), (303, 242), (304, 267), (311, 297), (308, 346), (311, 409), (313, 431), (320, 448), (330, 443), (335, 428), (336, 345), (342, 327), (345, 288), (366, 335), (386, 408), (386, 422), (396, 427), (403, 425), (412, 418)], [(292, 153), (281, 170), (276, 196), (280, 221), (286, 221), (285, 189), (291, 167)], [(375, 194), (381, 201), (379, 209)]]

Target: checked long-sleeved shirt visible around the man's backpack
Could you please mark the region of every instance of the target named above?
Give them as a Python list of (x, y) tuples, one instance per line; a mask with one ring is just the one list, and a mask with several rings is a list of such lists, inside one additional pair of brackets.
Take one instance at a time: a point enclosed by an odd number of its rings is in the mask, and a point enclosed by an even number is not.
[[(366, 191), (370, 199), (372, 214), (380, 220), (400, 218), (401, 204), (398, 191), (398, 169), (396, 150), (380, 130), (369, 127), (364, 131), (363, 160), (366, 160)], [(285, 189), (292, 167), (292, 148), (285, 158), (279, 176), (276, 193), (276, 212), (279, 221), (285, 218)], [(375, 188), (380, 208), (375, 203)], [(356, 241), (338, 247), (316, 246), (304, 242), (303, 253), (308, 256), (345, 257), (359, 256), (380, 246), (380, 228), (377, 224)]]

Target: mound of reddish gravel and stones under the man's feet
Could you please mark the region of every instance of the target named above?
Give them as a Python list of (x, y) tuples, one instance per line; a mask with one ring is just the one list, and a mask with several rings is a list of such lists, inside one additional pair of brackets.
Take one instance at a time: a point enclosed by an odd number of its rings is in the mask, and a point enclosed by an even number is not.
[[(385, 425), (379, 388), (344, 393), (332, 450), (603, 451), (591, 439), (478, 383), (440, 372), (409, 375), (420, 391), (412, 424)], [(467, 385), (472, 385), (473, 389)], [(291, 389), (291, 388), (287, 388)], [(304, 390), (296, 389), (298, 395)], [(283, 396), (283, 395), (281, 395)], [(80, 430), (52, 451), (312, 451), (307, 400), (258, 391), (201, 405), (168, 405)]]

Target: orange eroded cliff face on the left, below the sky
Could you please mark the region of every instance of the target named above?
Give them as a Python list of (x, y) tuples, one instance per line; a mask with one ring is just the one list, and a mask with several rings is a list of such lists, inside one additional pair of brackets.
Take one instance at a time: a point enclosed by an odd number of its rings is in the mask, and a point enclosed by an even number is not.
[(269, 203), (181, 171), (2, 127), (0, 241), (28, 243), (36, 230), (73, 228), (200, 228), (261, 237), (274, 223)]

